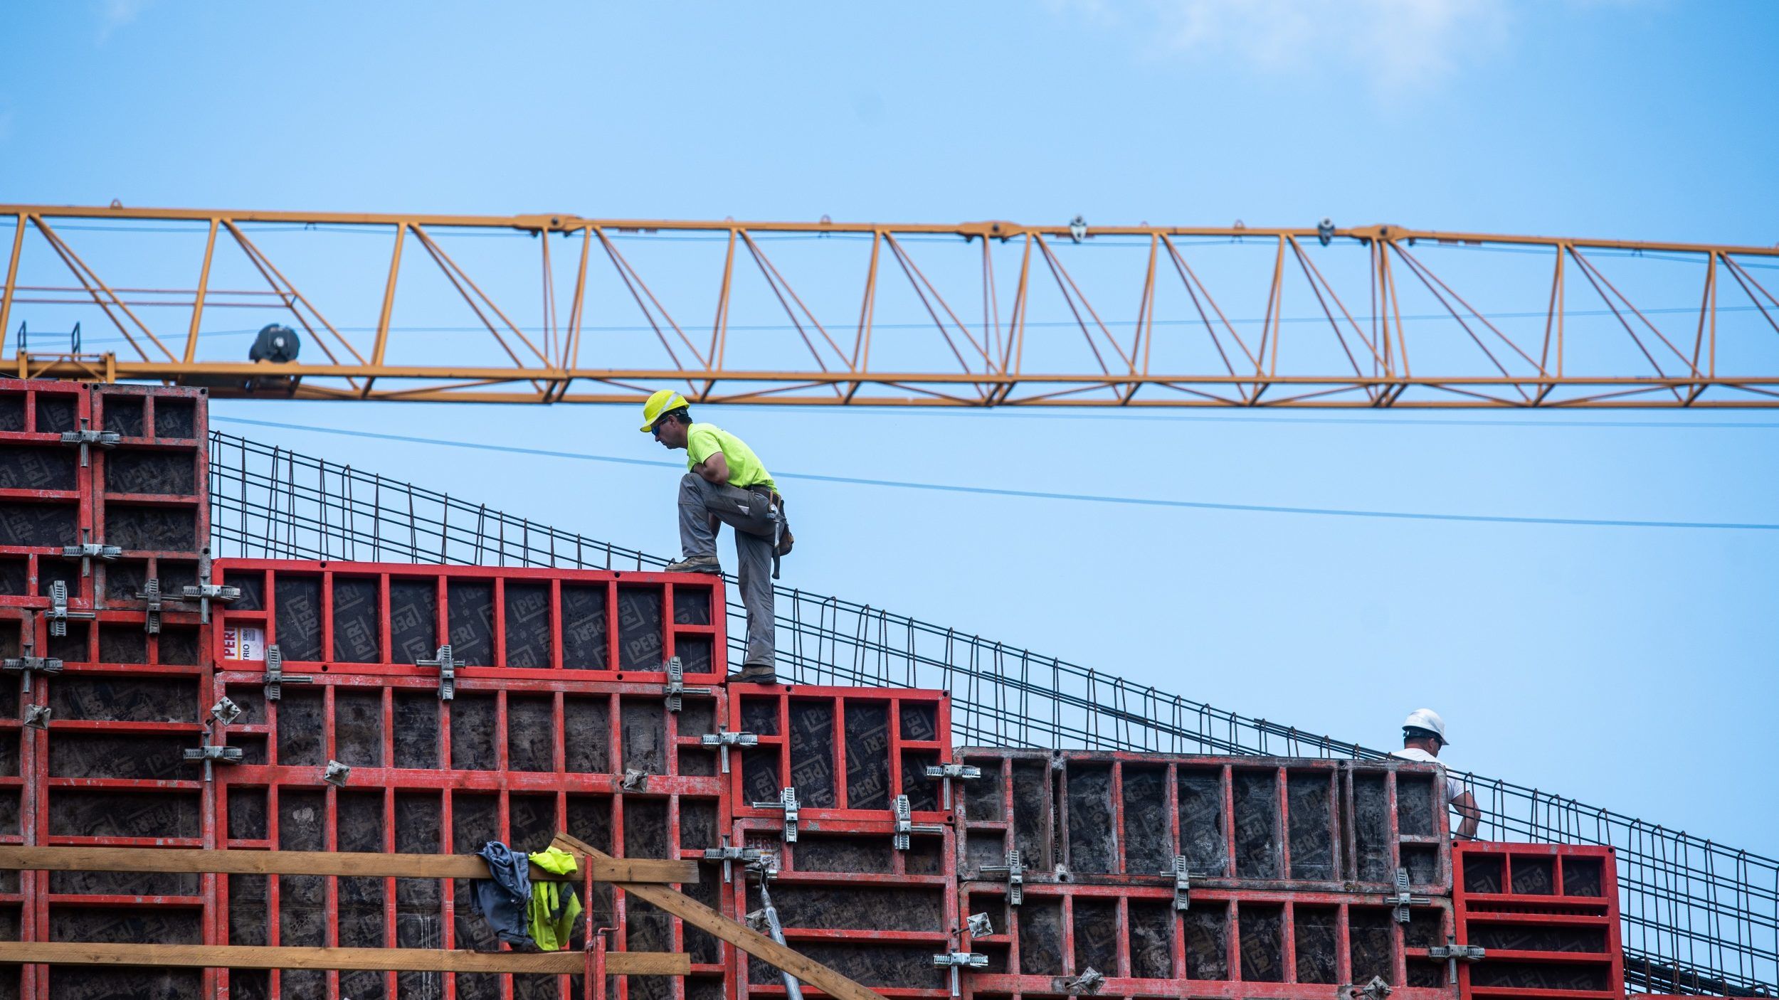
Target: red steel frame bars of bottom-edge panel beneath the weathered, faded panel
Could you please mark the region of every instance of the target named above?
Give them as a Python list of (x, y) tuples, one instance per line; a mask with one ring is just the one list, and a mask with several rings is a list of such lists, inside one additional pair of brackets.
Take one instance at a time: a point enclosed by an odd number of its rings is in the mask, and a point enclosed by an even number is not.
[[(1327, 1000), (1334, 986), (1352, 984), (1364, 986), (1363, 982), (1352, 982), (1350, 968), (1350, 945), (1348, 945), (1348, 913), (1352, 907), (1368, 907), (1388, 911), (1389, 902), (1375, 893), (1343, 893), (1343, 891), (1249, 891), (1249, 890), (1192, 890), (1190, 907), (1222, 907), (1224, 911), (1224, 932), (1226, 932), (1226, 963), (1231, 973), (1228, 980), (1213, 979), (1188, 979), (1192, 973), (1187, 968), (1187, 950), (1185, 950), (1185, 923), (1176, 916), (1174, 920), (1174, 938), (1171, 945), (1171, 966), (1172, 975), (1169, 979), (1135, 979), (1131, 977), (1131, 959), (1130, 959), (1130, 904), (1133, 900), (1142, 900), (1156, 906), (1172, 904), (1172, 890), (1162, 888), (1144, 888), (1144, 886), (1107, 886), (1107, 884), (1032, 884), (1025, 886), (1025, 902), (1021, 906), (1005, 906), (1005, 886), (996, 886), (991, 883), (964, 883), (961, 890), (961, 913), (982, 913), (984, 909), (994, 916), (994, 934), (986, 938), (971, 938), (968, 929), (964, 931), (964, 947), (968, 950), (980, 952), (987, 948), (1005, 948), (1005, 968), (1007, 972), (971, 972), (964, 973), (964, 984), (971, 996), (1055, 996), (1067, 993), (1064, 980), (1080, 975), (1082, 968), (1075, 961), (1075, 920), (1073, 906), (1076, 899), (1092, 900), (1115, 900), (1117, 904), (1117, 968), (1098, 970), (1105, 975), (1105, 984), (1099, 988), (1101, 996), (1172, 996), (1179, 1000), (1203, 998), (1203, 996), (1222, 996), (1231, 1000), (1244, 998), (1283, 998), (1283, 1000)], [(1062, 956), (1060, 964), (1064, 975), (1048, 973), (1025, 973), (1019, 957), (1019, 915), (1032, 904), (1042, 904), (1046, 900), (1057, 900), (1062, 904)], [(1240, 940), (1240, 909), (1244, 904), (1249, 906), (1267, 906), (1281, 907), (1281, 980), (1244, 980), (1242, 979), (1242, 940)], [(1338, 932), (1336, 932), (1336, 984), (1322, 982), (1297, 982), (1297, 950), (1295, 950), (1295, 907), (1315, 906), (1320, 909), (1338, 909)], [(1425, 913), (1436, 909), (1439, 911), (1439, 927), (1446, 934), (1452, 931), (1453, 920), (1450, 907), (1445, 900), (1432, 900), (1427, 906), (1416, 906), (1414, 911)], [(1005, 918), (1003, 918), (1005, 915)], [(1450, 1000), (1453, 988), (1450, 984), (1443, 988), (1425, 988), (1425, 986), (1405, 986), (1407, 982), (1407, 961), (1414, 957), (1425, 957), (1425, 950), (1411, 948), (1405, 943), (1405, 927), (1402, 923), (1391, 922), (1393, 929), (1393, 950), (1391, 950), (1391, 996), (1400, 1000)], [(1443, 975), (1443, 972), (1441, 972)]]

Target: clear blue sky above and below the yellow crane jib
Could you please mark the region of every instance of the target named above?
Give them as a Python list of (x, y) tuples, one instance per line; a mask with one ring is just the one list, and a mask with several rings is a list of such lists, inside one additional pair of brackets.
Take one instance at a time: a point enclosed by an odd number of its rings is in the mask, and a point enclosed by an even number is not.
[[(7, 5), (0, 34), (28, 44), (0, 64), (0, 201), (934, 222), (1331, 215), (1779, 242), (1768, 4), (523, 11)], [(664, 457), (628, 411), (598, 407), (215, 413)], [(1779, 420), (1758, 413), (701, 416), (776, 472), (1779, 521)], [(228, 429), (672, 548), (667, 470)], [(1430, 705), (1453, 726), (1455, 765), (1779, 854), (1779, 808), (1749, 797), (1751, 765), (1779, 749), (1779, 532), (788, 484), (797, 585), (1372, 744)]]

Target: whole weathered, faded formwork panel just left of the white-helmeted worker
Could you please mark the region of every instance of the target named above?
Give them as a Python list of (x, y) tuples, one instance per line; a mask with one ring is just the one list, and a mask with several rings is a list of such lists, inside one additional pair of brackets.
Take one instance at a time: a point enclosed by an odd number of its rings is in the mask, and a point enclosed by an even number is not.
[[(959, 870), (1028, 883), (1448, 895), (1439, 770), (1411, 762), (964, 747)], [(1005, 875), (998, 875), (1005, 877)]]

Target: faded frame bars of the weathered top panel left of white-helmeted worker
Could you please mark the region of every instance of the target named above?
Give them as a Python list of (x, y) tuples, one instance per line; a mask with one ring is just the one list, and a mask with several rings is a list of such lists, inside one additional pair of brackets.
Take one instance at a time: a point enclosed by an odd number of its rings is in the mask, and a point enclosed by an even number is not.
[[(1400, 813), (1397, 808), (1397, 776), (1416, 774), (1429, 781), (1439, 781), (1441, 770), (1434, 765), (1420, 765), (1413, 762), (1347, 762), (1347, 760), (1308, 760), (1308, 758), (1263, 758), (1263, 756), (1192, 756), (1181, 758), (1178, 754), (1142, 754), (1142, 753), (1108, 753), (1108, 751), (1023, 751), (1023, 749), (1000, 749), (1000, 747), (961, 747), (957, 751), (957, 760), (964, 763), (973, 763), (984, 769), (1000, 769), (1000, 786), (1002, 786), (1002, 817), (1012, 817), (1014, 786), (1012, 770), (1016, 760), (1028, 762), (1062, 762), (1067, 763), (1108, 763), (1112, 767), (1112, 810), (1115, 815), (1115, 840), (1119, 852), (1119, 870), (1123, 874), (1083, 874), (1069, 865), (1071, 881), (1091, 881), (1105, 884), (1144, 884), (1156, 881), (1171, 881), (1172, 875), (1156, 874), (1130, 874), (1126, 865), (1128, 840), (1123, 836), (1126, 829), (1124, 822), (1124, 794), (1123, 794), (1123, 772), (1126, 765), (1140, 767), (1162, 767), (1165, 769), (1163, 790), (1167, 795), (1165, 813), (1169, 824), (1171, 842), (1179, 845), (1179, 774), (1183, 770), (1199, 772), (1220, 772), (1220, 794), (1222, 794), (1222, 833), (1224, 833), (1224, 858), (1228, 874), (1222, 877), (1192, 877), (1194, 886), (1211, 886), (1211, 888), (1229, 888), (1229, 890), (1277, 890), (1277, 891), (1297, 891), (1297, 890), (1322, 890), (1322, 891), (1347, 891), (1354, 886), (1364, 884), (1356, 877), (1338, 877), (1332, 881), (1311, 881), (1311, 879), (1249, 879), (1240, 877), (1235, 868), (1236, 858), (1236, 815), (1235, 815), (1235, 774), (1238, 770), (1261, 772), (1272, 770), (1277, 785), (1277, 813), (1274, 815), (1274, 836), (1279, 843), (1279, 870), (1290, 874), (1292, 870), (1292, 838), (1290, 831), (1290, 795), (1286, 781), (1293, 774), (1306, 772), (1325, 772), (1331, 781), (1329, 795), (1329, 829), (1340, 831), (1334, 838), (1332, 867), (1336, 872), (1345, 872), (1347, 863), (1354, 856), (1354, 829), (1347, 820), (1354, 795), (1352, 779), (1356, 772), (1381, 774), (1384, 776), (1386, 790), (1386, 817), (1388, 817), (1388, 835), (1386, 843), (1389, 845), (1389, 870), (1395, 872), (1402, 867), (1402, 845), (1429, 845), (1436, 849), (1437, 854), (1437, 877), (1432, 883), (1416, 883), (1420, 891), (1448, 891), (1452, 884), (1452, 856), (1446, 845), (1450, 843), (1450, 811), (1445, 808), (1434, 808), (1434, 833), (1432, 835), (1405, 835), (1400, 831)], [(1064, 831), (1067, 822), (1067, 770), (1064, 769), (1060, 776), (1051, 778), (1051, 781), (1060, 781), (1062, 785), (1053, 785), (1057, 794), (1050, 797), (1051, 804), (1051, 836)], [(1439, 795), (1437, 785), (1434, 794)], [(968, 795), (968, 792), (966, 792)], [(1060, 813), (1060, 815), (1059, 815)], [(959, 863), (964, 867), (966, 874), (973, 868), (968, 858), (970, 838), (971, 836), (998, 836), (1002, 840), (1000, 856), (1012, 847), (1012, 824), (1007, 819), (982, 820), (975, 819), (973, 811), (964, 810), (964, 817), (959, 820)], [(1067, 838), (1064, 836), (1060, 843), (1053, 843), (1053, 852), (1059, 859), (1066, 863), (1067, 859)], [(1000, 863), (996, 859), (996, 863)], [(1030, 865), (1032, 859), (1026, 859)], [(1055, 879), (1055, 872), (1046, 872), (1041, 867), (1032, 868), (1025, 874), (1026, 883), (1042, 883), (1046, 879)], [(1373, 891), (1382, 891), (1391, 888), (1389, 884), (1370, 883)]]

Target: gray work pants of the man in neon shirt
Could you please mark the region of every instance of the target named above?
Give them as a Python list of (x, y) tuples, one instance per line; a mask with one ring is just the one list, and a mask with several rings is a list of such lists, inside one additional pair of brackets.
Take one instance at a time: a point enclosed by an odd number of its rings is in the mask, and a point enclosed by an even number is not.
[(747, 609), (747, 658), (742, 667), (770, 667), (772, 655), (772, 495), (717, 486), (696, 472), (680, 480), (680, 548), (685, 559), (717, 555), (710, 518), (735, 528), (737, 578)]

